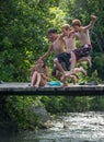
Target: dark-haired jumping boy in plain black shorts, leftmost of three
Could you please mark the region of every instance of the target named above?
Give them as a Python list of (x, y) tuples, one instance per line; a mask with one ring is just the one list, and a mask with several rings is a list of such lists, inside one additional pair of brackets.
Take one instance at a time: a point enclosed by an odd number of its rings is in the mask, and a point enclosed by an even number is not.
[[(63, 35), (62, 34), (58, 35), (56, 28), (51, 28), (48, 32), (48, 38), (51, 43), (50, 47), (49, 47), (48, 51), (41, 59), (48, 57), (49, 54), (51, 51), (54, 51), (55, 52), (55, 59), (54, 59), (55, 69), (54, 69), (53, 74), (56, 75), (56, 70), (59, 70), (62, 75), (66, 73), (66, 71), (70, 71), (72, 68), (72, 62), (70, 61), (71, 54), (66, 52)], [(72, 79), (74, 82), (74, 80), (77, 80), (77, 79), (74, 79), (73, 73), (80, 72), (80, 71), (82, 72), (82, 70), (80, 70), (80, 69), (77, 69), (77, 70), (74, 69), (74, 72), (70, 73), (69, 78)], [(61, 79), (60, 79), (60, 81), (61, 81)]]

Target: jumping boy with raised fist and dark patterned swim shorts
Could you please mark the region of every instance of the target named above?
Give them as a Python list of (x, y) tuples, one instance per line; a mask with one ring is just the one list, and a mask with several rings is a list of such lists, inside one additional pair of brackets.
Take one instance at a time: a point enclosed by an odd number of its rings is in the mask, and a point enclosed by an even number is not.
[(93, 27), (95, 21), (96, 21), (96, 16), (94, 15), (91, 16), (91, 22), (86, 26), (82, 26), (80, 20), (76, 19), (72, 21), (72, 27), (74, 28), (76, 35), (78, 36), (81, 44), (80, 48), (73, 50), (74, 56), (76, 56), (76, 62), (88, 60), (90, 67), (91, 67), (90, 55), (92, 51), (92, 46), (91, 46), (89, 31)]

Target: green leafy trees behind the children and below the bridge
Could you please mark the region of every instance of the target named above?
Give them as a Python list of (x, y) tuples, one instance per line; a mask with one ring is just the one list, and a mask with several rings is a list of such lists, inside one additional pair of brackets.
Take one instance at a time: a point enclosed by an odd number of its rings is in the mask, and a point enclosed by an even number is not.
[[(30, 81), (30, 69), (34, 60), (48, 49), (47, 31), (56, 26), (61, 31), (63, 23), (80, 19), (83, 25), (89, 24), (91, 14), (97, 16), (90, 32), (93, 46), (89, 76), (80, 78), (79, 82), (104, 80), (104, 1), (103, 0), (0, 0), (0, 80), (7, 82)], [(53, 56), (48, 58), (53, 66)], [(39, 98), (7, 97), (0, 98), (0, 125), (14, 122), (22, 128), (28, 122), (28, 107)], [(43, 97), (41, 99), (51, 111), (82, 111), (103, 109), (104, 98), (101, 97)], [(25, 103), (25, 104), (24, 104)], [(96, 106), (94, 106), (96, 104)], [(26, 109), (23, 111), (23, 105)], [(38, 104), (39, 105), (39, 104)], [(10, 109), (8, 109), (10, 108)], [(38, 118), (35, 116), (38, 123)], [(3, 121), (4, 122), (4, 121)], [(35, 123), (36, 125), (36, 123)]]

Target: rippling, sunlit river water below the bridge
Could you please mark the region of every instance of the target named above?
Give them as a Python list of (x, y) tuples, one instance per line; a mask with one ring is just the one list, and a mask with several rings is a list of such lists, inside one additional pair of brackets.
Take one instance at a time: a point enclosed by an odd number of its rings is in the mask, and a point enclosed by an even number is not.
[(48, 123), (48, 129), (24, 132), (7, 142), (104, 142), (104, 113), (69, 113)]

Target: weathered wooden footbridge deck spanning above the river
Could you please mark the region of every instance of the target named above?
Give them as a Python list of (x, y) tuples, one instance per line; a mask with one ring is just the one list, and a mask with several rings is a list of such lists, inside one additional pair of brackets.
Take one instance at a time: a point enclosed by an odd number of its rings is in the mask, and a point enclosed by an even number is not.
[(31, 87), (30, 83), (1, 83), (0, 96), (2, 95), (96, 96), (104, 95), (104, 84), (70, 84), (68, 87), (46, 86), (35, 88)]

